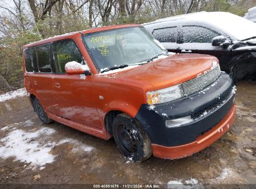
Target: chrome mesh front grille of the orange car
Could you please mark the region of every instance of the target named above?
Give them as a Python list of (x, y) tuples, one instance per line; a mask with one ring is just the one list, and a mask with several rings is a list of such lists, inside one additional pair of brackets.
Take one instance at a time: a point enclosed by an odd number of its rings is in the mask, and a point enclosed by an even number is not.
[(208, 71), (204, 75), (197, 76), (196, 78), (182, 83), (184, 96), (189, 94), (196, 93), (204, 89), (206, 86), (210, 85), (219, 78), (220, 68), (219, 65), (216, 65), (212, 70)]

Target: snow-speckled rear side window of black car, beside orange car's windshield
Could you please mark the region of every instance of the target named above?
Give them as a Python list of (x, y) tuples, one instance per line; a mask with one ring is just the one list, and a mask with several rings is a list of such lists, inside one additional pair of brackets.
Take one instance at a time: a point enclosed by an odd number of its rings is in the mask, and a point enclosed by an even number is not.
[(177, 27), (167, 27), (162, 29), (156, 29), (153, 31), (153, 36), (159, 42), (176, 43), (178, 35)]

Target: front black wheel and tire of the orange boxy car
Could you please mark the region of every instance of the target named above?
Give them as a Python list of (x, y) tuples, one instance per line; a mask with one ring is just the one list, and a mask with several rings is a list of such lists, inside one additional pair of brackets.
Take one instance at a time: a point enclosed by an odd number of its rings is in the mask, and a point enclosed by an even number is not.
[(114, 119), (113, 136), (121, 152), (135, 162), (143, 162), (153, 154), (148, 135), (127, 114), (118, 114)]

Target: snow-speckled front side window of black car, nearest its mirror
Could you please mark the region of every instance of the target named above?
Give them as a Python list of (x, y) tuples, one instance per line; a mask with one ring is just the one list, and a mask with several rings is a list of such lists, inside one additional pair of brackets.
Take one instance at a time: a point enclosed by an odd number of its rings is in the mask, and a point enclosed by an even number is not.
[(183, 43), (211, 43), (212, 38), (219, 35), (206, 27), (196, 25), (183, 26)]

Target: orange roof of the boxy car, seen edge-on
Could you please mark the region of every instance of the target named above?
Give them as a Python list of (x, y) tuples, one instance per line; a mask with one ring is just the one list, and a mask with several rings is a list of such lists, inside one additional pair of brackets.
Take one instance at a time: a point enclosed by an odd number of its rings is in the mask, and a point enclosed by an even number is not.
[(90, 34), (90, 33), (94, 33), (94, 32), (101, 32), (104, 30), (120, 29), (120, 28), (125, 28), (125, 27), (138, 27), (138, 26), (141, 26), (141, 25), (140, 24), (126, 24), (126, 25), (110, 25), (110, 26), (104, 26), (104, 27), (96, 27), (93, 29), (82, 30), (82, 31), (78, 31), (78, 32), (70, 32), (67, 34), (55, 35), (54, 37), (49, 37), (47, 39), (39, 40), (37, 42), (32, 42), (31, 44), (24, 45), (23, 48), (34, 47), (37, 45), (43, 45), (43, 44), (47, 44), (49, 42), (54, 42), (57, 40), (70, 39), (70, 38), (74, 37), (75, 35), (83, 35), (83, 34)]

